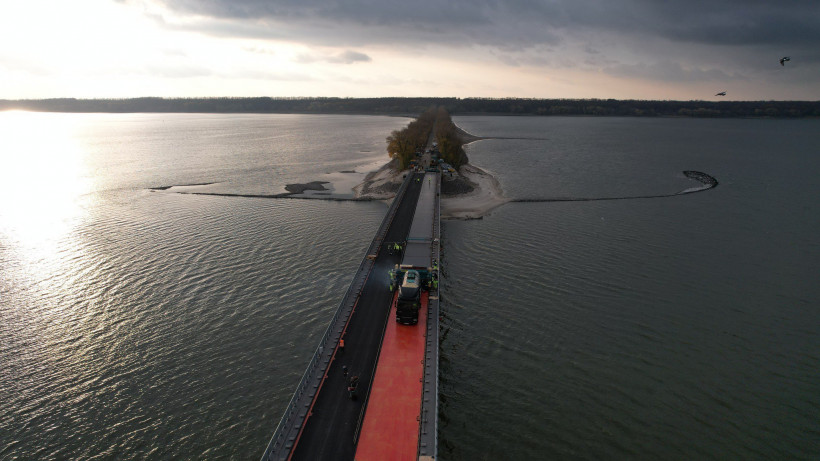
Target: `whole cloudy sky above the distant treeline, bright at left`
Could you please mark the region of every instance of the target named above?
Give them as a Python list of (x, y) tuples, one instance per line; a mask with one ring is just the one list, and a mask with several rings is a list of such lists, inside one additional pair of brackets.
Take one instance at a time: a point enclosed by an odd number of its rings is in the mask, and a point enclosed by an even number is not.
[(0, 37), (0, 99), (820, 100), (818, 0), (0, 0)]

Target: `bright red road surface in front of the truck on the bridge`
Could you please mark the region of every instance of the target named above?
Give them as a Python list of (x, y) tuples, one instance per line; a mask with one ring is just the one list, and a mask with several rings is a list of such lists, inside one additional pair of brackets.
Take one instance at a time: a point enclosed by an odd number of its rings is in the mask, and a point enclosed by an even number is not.
[(395, 321), (394, 299), (356, 448), (356, 461), (416, 459), (427, 297), (428, 293), (423, 291), (417, 325)]

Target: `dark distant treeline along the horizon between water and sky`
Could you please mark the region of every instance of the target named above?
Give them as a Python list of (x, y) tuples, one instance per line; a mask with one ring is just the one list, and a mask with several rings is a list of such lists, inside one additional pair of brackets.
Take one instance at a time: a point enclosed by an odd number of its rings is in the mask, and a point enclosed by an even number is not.
[(3, 100), (0, 110), (40, 112), (182, 112), (416, 115), (451, 114), (633, 117), (820, 117), (820, 101), (649, 101), (520, 98), (132, 98)]

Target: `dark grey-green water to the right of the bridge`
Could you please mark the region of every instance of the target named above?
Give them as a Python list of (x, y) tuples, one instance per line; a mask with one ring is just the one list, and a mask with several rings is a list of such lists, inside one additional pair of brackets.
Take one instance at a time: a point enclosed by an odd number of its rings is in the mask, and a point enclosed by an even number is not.
[(444, 226), (442, 455), (817, 459), (820, 122), (460, 117), (514, 203)]

